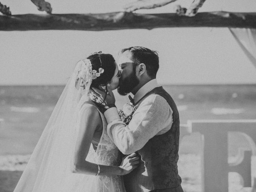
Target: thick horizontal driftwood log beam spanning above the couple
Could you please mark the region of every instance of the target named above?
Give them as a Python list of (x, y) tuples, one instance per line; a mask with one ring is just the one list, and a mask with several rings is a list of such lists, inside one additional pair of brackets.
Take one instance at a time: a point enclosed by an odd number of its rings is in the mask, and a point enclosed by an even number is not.
[(0, 30), (122, 30), (166, 27), (256, 28), (256, 13), (200, 12), (194, 17), (177, 14), (51, 14), (0, 16)]

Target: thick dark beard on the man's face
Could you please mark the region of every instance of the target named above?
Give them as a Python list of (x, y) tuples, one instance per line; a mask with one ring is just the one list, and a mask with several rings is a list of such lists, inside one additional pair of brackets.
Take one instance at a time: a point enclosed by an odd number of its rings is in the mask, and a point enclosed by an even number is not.
[(120, 94), (120, 95), (127, 95), (128, 93), (130, 93), (134, 87), (136, 87), (140, 80), (137, 78), (136, 76), (136, 71), (133, 70), (132, 73), (124, 78), (124, 80), (122, 80), (122, 78), (120, 78), (119, 80), (119, 86), (117, 88), (117, 92)]

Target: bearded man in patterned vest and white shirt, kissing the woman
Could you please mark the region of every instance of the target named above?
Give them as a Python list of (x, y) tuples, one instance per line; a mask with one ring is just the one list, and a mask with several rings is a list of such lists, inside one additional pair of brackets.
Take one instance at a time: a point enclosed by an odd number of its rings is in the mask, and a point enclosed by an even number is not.
[(122, 50), (119, 62), (121, 78), (118, 93), (134, 95), (137, 106), (129, 124), (124, 124), (108, 95), (104, 112), (108, 135), (123, 154), (136, 152), (141, 164), (124, 176), (127, 192), (183, 192), (177, 161), (179, 114), (172, 97), (156, 82), (159, 58), (144, 47)]

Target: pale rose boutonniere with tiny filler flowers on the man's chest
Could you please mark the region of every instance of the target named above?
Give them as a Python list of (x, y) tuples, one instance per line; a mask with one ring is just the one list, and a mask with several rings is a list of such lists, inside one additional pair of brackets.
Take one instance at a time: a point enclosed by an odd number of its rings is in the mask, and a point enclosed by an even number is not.
[(134, 114), (136, 109), (137, 106), (133, 105), (131, 102), (129, 104), (124, 104), (123, 108), (118, 110), (118, 114), (122, 122), (128, 125), (132, 120), (132, 115)]

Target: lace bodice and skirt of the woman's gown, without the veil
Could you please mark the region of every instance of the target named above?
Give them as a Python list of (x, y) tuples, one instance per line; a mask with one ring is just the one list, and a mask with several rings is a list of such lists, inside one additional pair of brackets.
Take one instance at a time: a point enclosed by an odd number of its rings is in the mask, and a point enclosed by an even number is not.
[[(84, 103), (83, 105), (87, 104)], [(98, 111), (103, 123), (102, 136), (96, 151), (91, 144), (86, 160), (101, 165), (119, 166), (122, 162), (122, 153), (109, 138), (106, 118), (100, 110)], [(96, 183), (96, 192), (126, 192), (122, 176), (97, 176)]]

